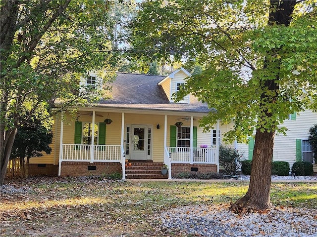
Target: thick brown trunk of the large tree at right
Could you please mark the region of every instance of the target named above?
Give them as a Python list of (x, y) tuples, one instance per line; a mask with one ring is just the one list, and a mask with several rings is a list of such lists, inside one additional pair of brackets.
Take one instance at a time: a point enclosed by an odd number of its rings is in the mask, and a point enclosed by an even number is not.
[[(270, 0), (268, 25), (289, 26), (295, 4), (296, 0)], [(274, 55), (277, 50), (278, 49), (274, 49), (268, 53)], [(276, 62), (274, 63), (272, 67), (271, 62), (267, 59), (264, 60), (264, 69), (271, 68), (276, 71), (275, 79), (266, 79), (263, 81), (264, 86), (261, 100), (266, 103), (274, 103), (278, 97), (278, 81), (280, 79), (278, 73), (279, 65), (276, 64)], [(270, 93), (267, 93), (268, 91), (270, 91)], [(265, 108), (265, 104), (261, 104), (261, 106)], [(264, 113), (266, 119), (271, 119), (272, 115), (269, 111), (264, 110)], [(261, 126), (257, 129), (249, 189), (244, 197), (238, 199), (231, 206), (231, 210), (235, 212), (246, 212), (264, 210), (272, 206), (270, 202), (270, 186), (274, 136), (274, 129), (271, 129), (270, 132), (261, 132)]]

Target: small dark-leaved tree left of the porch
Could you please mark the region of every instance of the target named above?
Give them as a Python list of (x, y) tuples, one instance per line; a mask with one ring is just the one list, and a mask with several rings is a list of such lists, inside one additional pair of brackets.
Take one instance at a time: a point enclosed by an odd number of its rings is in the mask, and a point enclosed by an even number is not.
[(22, 177), (28, 177), (28, 166), (31, 157), (42, 157), (42, 152), (51, 154), (52, 148), (49, 145), (52, 141), (52, 131), (40, 122), (32, 126), (21, 126), (17, 129), (11, 158), (20, 158)]

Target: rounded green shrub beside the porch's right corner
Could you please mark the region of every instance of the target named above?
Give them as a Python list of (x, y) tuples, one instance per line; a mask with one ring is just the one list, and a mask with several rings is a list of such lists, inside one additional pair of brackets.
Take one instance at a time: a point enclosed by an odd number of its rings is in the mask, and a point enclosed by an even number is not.
[(240, 158), (238, 150), (230, 147), (219, 146), (219, 165), (229, 174), (236, 174), (240, 167)]

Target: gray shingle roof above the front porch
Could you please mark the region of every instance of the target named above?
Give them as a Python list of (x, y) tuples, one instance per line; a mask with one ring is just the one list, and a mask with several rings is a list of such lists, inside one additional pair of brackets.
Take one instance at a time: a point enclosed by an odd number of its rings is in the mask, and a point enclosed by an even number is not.
[(110, 99), (101, 100), (97, 106), (162, 111), (209, 112), (207, 104), (191, 95), (190, 104), (170, 103), (162, 87), (158, 85), (164, 76), (117, 73), (109, 85)]

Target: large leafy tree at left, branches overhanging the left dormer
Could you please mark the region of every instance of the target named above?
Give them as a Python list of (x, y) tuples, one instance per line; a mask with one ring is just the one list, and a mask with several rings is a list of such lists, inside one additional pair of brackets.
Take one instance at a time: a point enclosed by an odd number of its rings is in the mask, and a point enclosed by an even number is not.
[(57, 113), (102, 95), (99, 89), (81, 89), (79, 80), (93, 69), (108, 79), (102, 72), (109, 69), (112, 57), (107, 38), (109, 4), (1, 1), (1, 185), (18, 127), (30, 118), (49, 126), (54, 98), (58, 98)]

